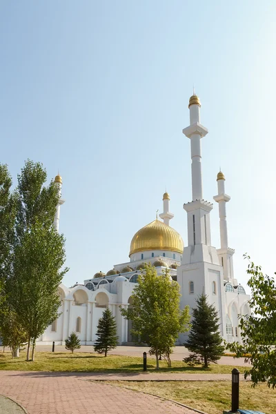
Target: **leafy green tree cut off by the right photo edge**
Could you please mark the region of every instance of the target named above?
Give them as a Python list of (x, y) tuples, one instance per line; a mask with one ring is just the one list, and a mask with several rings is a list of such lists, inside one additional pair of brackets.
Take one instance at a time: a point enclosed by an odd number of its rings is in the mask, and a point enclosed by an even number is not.
[[(262, 273), (262, 267), (249, 260), (247, 273), (250, 275), (248, 286), (251, 298), (248, 301), (251, 314), (240, 317), (242, 344), (233, 342), (226, 348), (236, 357), (246, 357), (250, 368), (244, 371), (244, 377), (250, 375), (254, 386), (259, 382), (267, 382), (268, 386), (276, 386), (276, 284), (275, 278)], [(276, 273), (275, 273), (276, 275)], [(274, 346), (272, 348), (271, 346)]]

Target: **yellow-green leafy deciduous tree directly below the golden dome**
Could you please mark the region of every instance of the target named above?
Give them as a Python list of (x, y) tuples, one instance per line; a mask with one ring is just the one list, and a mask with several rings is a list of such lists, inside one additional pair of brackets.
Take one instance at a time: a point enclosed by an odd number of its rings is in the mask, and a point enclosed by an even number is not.
[(179, 284), (170, 280), (168, 270), (157, 276), (155, 267), (146, 264), (132, 293), (132, 307), (121, 309), (121, 314), (132, 320), (132, 334), (150, 346), (157, 369), (159, 354), (166, 354), (168, 360), (178, 334), (188, 331), (188, 306), (180, 311), (179, 289)]

